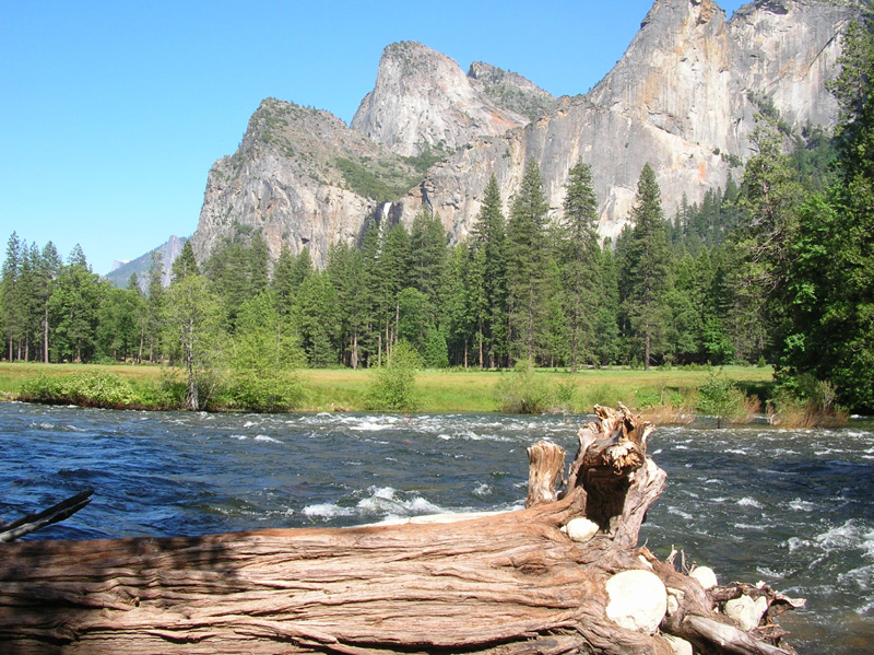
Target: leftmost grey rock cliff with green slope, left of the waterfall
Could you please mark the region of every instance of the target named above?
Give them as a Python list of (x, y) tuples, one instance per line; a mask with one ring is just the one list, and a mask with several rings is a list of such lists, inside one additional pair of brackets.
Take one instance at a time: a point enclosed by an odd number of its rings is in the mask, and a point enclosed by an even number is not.
[(274, 259), (283, 246), (295, 255), (307, 246), (323, 265), (330, 244), (356, 243), (375, 197), (399, 196), (420, 179), (332, 114), (265, 100), (237, 152), (210, 171), (194, 255), (203, 261), (221, 239), (260, 232)]

